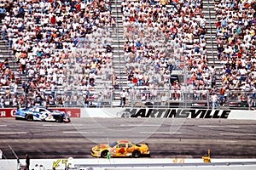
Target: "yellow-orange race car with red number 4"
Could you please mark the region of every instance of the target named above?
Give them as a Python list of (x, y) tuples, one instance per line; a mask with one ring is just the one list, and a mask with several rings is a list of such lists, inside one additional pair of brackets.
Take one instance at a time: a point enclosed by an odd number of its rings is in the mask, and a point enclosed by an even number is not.
[(112, 144), (97, 144), (90, 151), (96, 157), (140, 157), (150, 156), (148, 144), (133, 144), (130, 140), (118, 140)]

